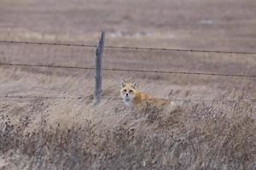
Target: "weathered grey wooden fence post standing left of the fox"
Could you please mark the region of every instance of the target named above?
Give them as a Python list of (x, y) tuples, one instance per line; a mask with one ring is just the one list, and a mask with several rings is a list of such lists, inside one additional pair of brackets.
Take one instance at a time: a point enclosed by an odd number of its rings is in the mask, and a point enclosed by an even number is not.
[(94, 103), (99, 104), (102, 99), (102, 54), (104, 48), (105, 32), (102, 31), (99, 39), (98, 46), (96, 48), (96, 76), (95, 76), (95, 93)]

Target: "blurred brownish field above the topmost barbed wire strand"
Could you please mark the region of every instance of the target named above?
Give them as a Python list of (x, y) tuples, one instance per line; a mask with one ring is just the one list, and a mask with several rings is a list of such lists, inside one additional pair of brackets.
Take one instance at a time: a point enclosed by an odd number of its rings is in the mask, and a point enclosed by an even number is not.
[(1, 39), (250, 51), (253, 0), (2, 0)]

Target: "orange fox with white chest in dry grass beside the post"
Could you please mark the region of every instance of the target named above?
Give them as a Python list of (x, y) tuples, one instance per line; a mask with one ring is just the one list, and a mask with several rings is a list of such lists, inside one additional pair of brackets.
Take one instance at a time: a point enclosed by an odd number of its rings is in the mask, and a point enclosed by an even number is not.
[(137, 82), (121, 82), (121, 97), (127, 106), (140, 109), (144, 104), (149, 103), (156, 107), (162, 107), (166, 105), (172, 105), (175, 108), (176, 104), (169, 99), (160, 99), (150, 94), (145, 94), (137, 90)]

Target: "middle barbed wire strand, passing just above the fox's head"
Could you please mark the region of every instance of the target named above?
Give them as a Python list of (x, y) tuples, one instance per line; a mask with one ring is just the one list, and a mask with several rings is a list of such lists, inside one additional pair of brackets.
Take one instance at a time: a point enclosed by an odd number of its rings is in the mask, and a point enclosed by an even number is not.
[[(80, 66), (68, 66), (68, 65), (43, 65), (43, 64), (20, 64), (20, 63), (0, 63), (0, 65), (95, 70), (95, 67), (80, 67)], [(104, 70), (104, 71), (149, 72), (149, 73), (163, 73), (163, 74), (183, 74), (183, 75), (204, 75), (204, 76), (219, 76), (219, 77), (256, 77), (256, 75), (187, 72), (187, 71), (150, 71), (150, 70), (132, 70), (132, 69), (116, 69), (116, 68), (103, 68), (102, 70)]]

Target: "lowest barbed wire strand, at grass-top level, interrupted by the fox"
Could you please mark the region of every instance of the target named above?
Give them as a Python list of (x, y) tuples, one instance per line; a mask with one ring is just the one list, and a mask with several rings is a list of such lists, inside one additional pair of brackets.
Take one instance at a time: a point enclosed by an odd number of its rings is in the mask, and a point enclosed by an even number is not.
[[(32, 95), (0, 95), (0, 98), (5, 99), (91, 99), (91, 96), (32, 96)], [(102, 98), (102, 100), (123, 100), (121, 98)], [(154, 99), (162, 101), (183, 101), (183, 102), (230, 102), (230, 103), (254, 103), (256, 100), (246, 99), (246, 100), (219, 100), (219, 99)]]

